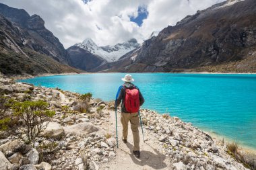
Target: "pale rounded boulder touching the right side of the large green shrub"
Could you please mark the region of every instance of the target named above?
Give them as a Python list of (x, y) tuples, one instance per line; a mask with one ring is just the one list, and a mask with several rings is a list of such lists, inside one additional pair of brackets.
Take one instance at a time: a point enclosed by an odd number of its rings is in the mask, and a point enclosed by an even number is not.
[(57, 122), (44, 122), (44, 124), (47, 123), (49, 124), (42, 132), (43, 137), (61, 139), (64, 136), (64, 129), (60, 124), (58, 124)]

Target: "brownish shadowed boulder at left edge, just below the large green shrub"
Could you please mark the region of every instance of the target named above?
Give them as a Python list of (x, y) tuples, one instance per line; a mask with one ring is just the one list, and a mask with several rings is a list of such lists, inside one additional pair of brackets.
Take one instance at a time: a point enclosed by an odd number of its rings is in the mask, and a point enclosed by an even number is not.
[(11, 157), (14, 153), (26, 154), (32, 147), (24, 144), (22, 140), (12, 140), (0, 146), (0, 151), (7, 157)]

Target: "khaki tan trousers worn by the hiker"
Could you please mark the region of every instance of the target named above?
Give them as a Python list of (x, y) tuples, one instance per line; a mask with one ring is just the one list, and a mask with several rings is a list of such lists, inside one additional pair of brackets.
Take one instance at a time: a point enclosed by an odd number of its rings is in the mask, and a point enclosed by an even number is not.
[(129, 121), (131, 122), (131, 131), (133, 132), (133, 151), (139, 151), (139, 114), (121, 113), (121, 123), (123, 125), (123, 139), (127, 139)]

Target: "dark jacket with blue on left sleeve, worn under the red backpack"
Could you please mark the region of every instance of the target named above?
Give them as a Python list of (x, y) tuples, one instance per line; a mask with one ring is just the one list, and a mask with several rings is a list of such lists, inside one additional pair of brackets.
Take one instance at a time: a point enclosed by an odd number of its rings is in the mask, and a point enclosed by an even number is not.
[[(117, 97), (117, 101), (116, 101), (116, 104), (117, 104), (117, 107), (119, 106), (119, 104), (121, 103), (121, 111), (124, 112), (124, 113), (129, 113), (127, 112), (127, 110), (125, 109), (125, 89), (134, 89), (134, 88), (137, 88), (135, 87), (135, 85), (133, 85), (133, 83), (124, 83), (123, 85), (125, 85), (125, 87), (122, 87), (121, 88), (121, 91), (119, 92), (119, 95)], [(139, 90), (139, 88), (137, 88)], [(144, 98), (143, 96), (141, 95), (140, 91), (139, 91), (139, 105), (143, 105), (144, 103)]]

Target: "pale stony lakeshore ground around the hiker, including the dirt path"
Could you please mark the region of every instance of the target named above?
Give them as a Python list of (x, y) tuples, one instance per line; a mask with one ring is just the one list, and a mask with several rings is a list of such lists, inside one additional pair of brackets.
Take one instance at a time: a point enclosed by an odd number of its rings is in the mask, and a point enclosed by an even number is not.
[[(17, 101), (43, 99), (56, 112), (32, 144), (0, 131), (0, 169), (247, 169), (230, 156), (225, 142), (177, 117), (141, 110), (146, 141), (139, 128), (141, 158), (137, 159), (132, 155), (130, 128), (124, 144), (120, 123), (117, 148), (113, 102), (85, 103), (77, 93), (1, 78), (0, 92)], [(85, 112), (88, 104), (90, 110)], [(249, 161), (253, 163), (253, 157)]]

